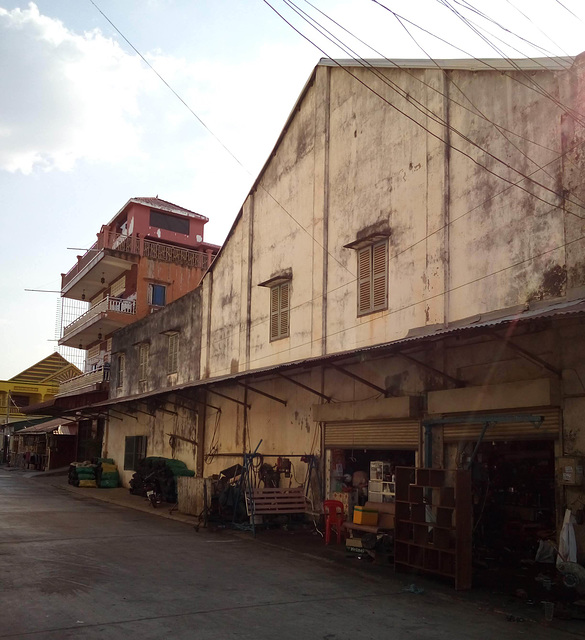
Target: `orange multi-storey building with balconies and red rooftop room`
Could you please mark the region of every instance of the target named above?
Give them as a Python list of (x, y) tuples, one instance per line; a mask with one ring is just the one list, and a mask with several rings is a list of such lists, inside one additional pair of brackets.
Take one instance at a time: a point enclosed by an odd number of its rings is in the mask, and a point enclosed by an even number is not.
[(87, 354), (85, 372), (61, 385), (59, 396), (106, 391), (112, 334), (199, 285), (219, 250), (203, 239), (207, 222), (156, 197), (131, 198), (102, 225), (96, 242), (61, 274), (61, 295), (88, 308), (59, 340)]

